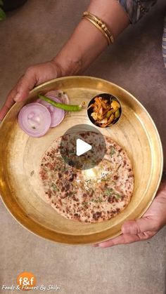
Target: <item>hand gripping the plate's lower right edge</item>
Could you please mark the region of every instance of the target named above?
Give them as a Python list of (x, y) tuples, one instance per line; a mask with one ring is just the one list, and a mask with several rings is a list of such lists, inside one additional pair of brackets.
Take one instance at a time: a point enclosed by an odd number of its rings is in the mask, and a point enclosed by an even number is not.
[(166, 225), (166, 180), (160, 185), (158, 194), (148, 211), (139, 220), (129, 220), (122, 225), (122, 234), (108, 241), (94, 244), (94, 247), (110, 247), (143, 241), (154, 236)]

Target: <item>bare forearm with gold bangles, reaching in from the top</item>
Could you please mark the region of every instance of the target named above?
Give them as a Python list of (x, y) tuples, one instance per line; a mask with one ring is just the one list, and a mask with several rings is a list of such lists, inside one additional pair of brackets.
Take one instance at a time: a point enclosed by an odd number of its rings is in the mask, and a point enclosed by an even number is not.
[[(129, 25), (129, 18), (116, 0), (91, 0), (87, 11), (101, 18), (114, 39)], [(56, 55), (54, 61), (62, 75), (73, 75), (87, 69), (107, 47), (106, 37), (88, 20), (81, 20), (70, 39)]]

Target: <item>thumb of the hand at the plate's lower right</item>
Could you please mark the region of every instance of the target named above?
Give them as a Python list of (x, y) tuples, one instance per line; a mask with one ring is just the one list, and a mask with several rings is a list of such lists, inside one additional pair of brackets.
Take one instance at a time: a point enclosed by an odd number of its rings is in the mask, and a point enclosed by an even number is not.
[(122, 225), (123, 234), (136, 235), (143, 232), (155, 231), (154, 221), (148, 218), (140, 218), (139, 220), (128, 220)]

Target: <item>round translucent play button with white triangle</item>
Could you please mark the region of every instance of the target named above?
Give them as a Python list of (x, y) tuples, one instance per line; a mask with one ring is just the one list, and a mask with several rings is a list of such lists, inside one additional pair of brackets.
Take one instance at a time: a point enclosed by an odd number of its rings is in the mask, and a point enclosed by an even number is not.
[(79, 124), (68, 128), (60, 141), (60, 154), (65, 163), (79, 170), (94, 168), (106, 154), (104, 136), (94, 126)]

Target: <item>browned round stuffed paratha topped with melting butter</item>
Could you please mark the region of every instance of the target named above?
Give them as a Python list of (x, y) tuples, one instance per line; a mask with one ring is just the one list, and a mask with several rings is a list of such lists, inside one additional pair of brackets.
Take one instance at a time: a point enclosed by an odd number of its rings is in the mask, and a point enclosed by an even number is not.
[[(86, 142), (87, 132), (80, 135)], [(94, 168), (79, 170), (60, 155), (60, 139), (46, 151), (39, 170), (51, 206), (65, 218), (90, 223), (110, 220), (123, 211), (134, 189), (132, 164), (125, 150), (105, 137), (103, 160)]]

